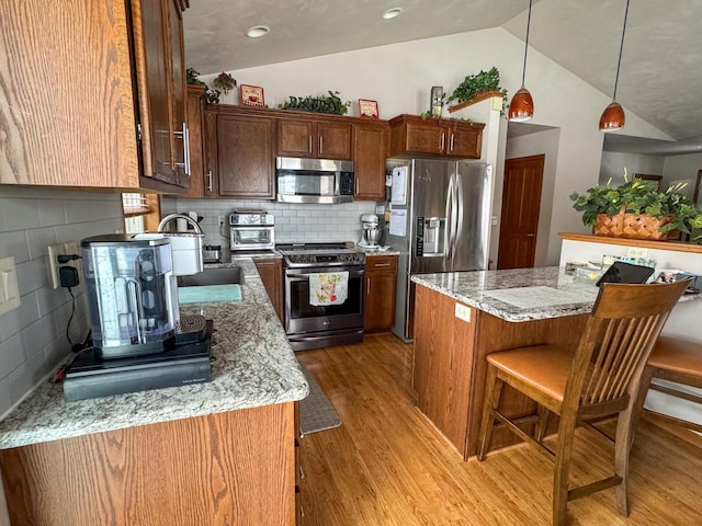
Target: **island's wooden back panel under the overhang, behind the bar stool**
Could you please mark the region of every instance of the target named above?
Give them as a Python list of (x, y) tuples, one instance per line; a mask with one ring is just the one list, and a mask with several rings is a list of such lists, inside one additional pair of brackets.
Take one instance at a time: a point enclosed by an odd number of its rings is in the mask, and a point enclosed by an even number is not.
[[(575, 348), (588, 315), (566, 316), (544, 320), (510, 322), (487, 312), (477, 312), (477, 334), (473, 378), (471, 381), (471, 405), (468, 416), (468, 436), (465, 458), (477, 454), (483, 398), (485, 396), (485, 377), (487, 376), (486, 356), (496, 351), (539, 345), (544, 343)], [(519, 418), (533, 414), (535, 402), (531, 401), (510, 386), (505, 386), (500, 399), (499, 410), (507, 416)], [(551, 419), (550, 431), (555, 431), (558, 419)], [(492, 432), (490, 449), (519, 444), (521, 439), (507, 428)]]

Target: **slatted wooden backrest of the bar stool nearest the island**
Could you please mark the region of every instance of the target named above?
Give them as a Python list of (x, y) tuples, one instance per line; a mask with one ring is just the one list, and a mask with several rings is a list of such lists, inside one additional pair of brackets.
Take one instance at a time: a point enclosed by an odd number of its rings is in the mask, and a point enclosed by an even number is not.
[(599, 414), (621, 410), (636, 392), (650, 350), (688, 285), (689, 279), (602, 284), (576, 352), (564, 403), (590, 405)]

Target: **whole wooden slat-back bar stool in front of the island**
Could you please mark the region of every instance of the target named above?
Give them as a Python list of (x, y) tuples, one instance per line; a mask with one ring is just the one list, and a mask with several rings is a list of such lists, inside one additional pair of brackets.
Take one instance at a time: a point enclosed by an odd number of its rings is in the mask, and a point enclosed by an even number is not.
[[(688, 281), (670, 284), (602, 284), (577, 348), (535, 345), (487, 355), (488, 371), (480, 426), (478, 460), (485, 459), (492, 428), (506, 425), (525, 442), (555, 459), (553, 524), (566, 523), (568, 501), (616, 487), (616, 508), (629, 515), (626, 483), (629, 450), (635, 423), (635, 402), (650, 350)], [(508, 384), (537, 402), (536, 414), (512, 422), (498, 411)], [(547, 410), (547, 411), (546, 411)], [(557, 414), (555, 450), (543, 444), (548, 411)], [(619, 415), (614, 474), (569, 488), (575, 428), (578, 423)], [(534, 436), (519, 424), (539, 425)]]

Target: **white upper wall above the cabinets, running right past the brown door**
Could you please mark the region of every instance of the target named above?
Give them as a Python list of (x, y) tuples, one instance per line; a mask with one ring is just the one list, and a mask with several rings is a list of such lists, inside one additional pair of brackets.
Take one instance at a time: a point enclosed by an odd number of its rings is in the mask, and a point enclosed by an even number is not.
[[(492, 66), (500, 71), (500, 84), (514, 93), (521, 84), (523, 42), (502, 28), (461, 33), (304, 60), (233, 70), (239, 83), (260, 85), (265, 102), (275, 107), (287, 96), (340, 91), (353, 102), (350, 115), (358, 115), (358, 99), (378, 102), (381, 118), (419, 114), (429, 107), (432, 85), (450, 94), (467, 76)], [(203, 76), (210, 81), (214, 76)], [(602, 153), (599, 118), (610, 98), (553, 62), (535, 49), (529, 50), (526, 87), (534, 99), (534, 124), (561, 128), (552, 220), (546, 236), (546, 261), (557, 262), (558, 231), (582, 231), (580, 215), (568, 195), (597, 184)], [(230, 93), (223, 102), (236, 102)], [(625, 108), (626, 110), (626, 108)], [(670, 139), (632, 112), (626, 111), (626, 133)], [(497, 188), (496, 198), (501, 194)]]

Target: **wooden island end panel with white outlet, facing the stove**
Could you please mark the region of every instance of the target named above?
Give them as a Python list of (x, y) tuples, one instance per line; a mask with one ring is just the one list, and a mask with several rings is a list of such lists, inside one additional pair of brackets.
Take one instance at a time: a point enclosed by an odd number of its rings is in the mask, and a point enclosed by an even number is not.
[(455, 316), (455, 299), (417, 286), (412, 387), (417, 407), (464, 454), (476, 310)]

